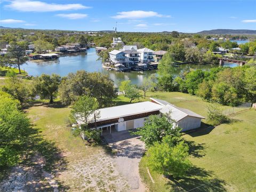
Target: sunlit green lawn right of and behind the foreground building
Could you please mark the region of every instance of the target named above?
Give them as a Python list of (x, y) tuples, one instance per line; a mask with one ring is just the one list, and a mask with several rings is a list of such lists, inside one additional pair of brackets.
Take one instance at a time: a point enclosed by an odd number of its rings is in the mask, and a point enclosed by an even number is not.
[[(206, 116), (207, 103), (183, 93), (148, 93), (176, 106)], [(146, 98), (148, 99), (148, 98)], [(144, 99), (143, 99), (144, 100)], [(233, 111), (231, 107), (223, 107)], [(164, 178), (150, 170), (147, 157), (140, 163), (140, 174), (150, 191), (256, 191), (256, 110), (234, 108), (231, 124), (199, 129), (183, 135), (190, 146), (194, 167), (186, 178)]]

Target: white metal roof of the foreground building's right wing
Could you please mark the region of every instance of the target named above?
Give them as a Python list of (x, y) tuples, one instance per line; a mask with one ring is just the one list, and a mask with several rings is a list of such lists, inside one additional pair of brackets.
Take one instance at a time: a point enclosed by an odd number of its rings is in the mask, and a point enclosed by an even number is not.
[(173, 105), (167, 104), (164, 108), (160, 110), (163, 114), (169, 114), (171, 115), (171, 119), (173, 119), (175, 122), (180, 121), (184, 117), (191, 116), (191, 117), (197, 117), (197, 118), (204, 118), (201, 115), (198, 115), (194, 113), (193, 111), (190, 111), (188, 109), (184, 109), (181, 107), (176, 107)]

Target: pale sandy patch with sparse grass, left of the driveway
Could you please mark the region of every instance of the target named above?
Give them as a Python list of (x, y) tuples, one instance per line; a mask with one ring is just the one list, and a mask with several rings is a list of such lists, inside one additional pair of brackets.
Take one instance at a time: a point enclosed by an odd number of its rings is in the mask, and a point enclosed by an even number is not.
[(128, 191), (129, 186), (119, 175), (110, 157), (100, 151), (89, 158), (80, 159), (62, 172), (59, 180), (70, 191)]

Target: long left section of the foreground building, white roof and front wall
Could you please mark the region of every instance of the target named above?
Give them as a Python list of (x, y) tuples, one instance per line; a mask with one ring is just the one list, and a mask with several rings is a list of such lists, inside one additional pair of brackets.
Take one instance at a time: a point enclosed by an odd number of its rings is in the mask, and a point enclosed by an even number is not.
[[(125, 131), (135, 128), (142, 127), (144, 125), (145, 119), (149, 115), (159, 114), (163, 106), (156, 103), (145, 101), (139, 103), (132, 103), (128, 105), (107, 107), (102, 108), (97, 111), (98, 117), (96, 120), (93, 116), (89, 116), (87, 122), (88, 126), (92, 129), (107, 129), (110, 127), (109, 132), (111, 133), (111, 128), (116, 131)], [(81, 119), (77, 117), (77, 119)], [(82, 126), (84, 121), (77, 120), (77, 124)], [(95, 127), (97, 126), (97, 127)], [(83, 136), (82, 136), (83, 137)]]

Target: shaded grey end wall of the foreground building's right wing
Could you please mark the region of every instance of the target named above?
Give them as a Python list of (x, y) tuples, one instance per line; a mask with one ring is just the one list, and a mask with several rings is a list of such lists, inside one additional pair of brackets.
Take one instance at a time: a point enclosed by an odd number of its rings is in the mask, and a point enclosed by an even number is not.
[(177, 122), (177, 126), (182, 128), (181, 131), (196, 129), (201, 126), (201, 118), (187, 116)]

